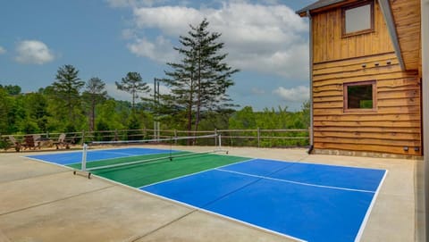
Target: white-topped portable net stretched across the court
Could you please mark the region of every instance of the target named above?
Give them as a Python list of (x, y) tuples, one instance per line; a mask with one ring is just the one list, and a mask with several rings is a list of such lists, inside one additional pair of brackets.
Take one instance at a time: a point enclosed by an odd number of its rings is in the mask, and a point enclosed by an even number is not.
[[(172, 144), (177, 141), (191, 141), (191, 143), (198, 144), (198, 140), (215, 138), (215, 146), (205, 146), (206, 150), (198, 150), (198, 152), (179, 151), (173, 150)], [(122, 157), (114, 158), (103, 158), (99, 157), (96, 161), (88, 161), (88, 147), (89, 146), (103, 146), (103, 145), (137, 145), (137, 144), (155, 144), (160, 142), (168, 142), (171, 146), (170, 149), (164, 149), (164, 153), (160, 154), (124, 154)], [(122, 140), (122, 141), (95, 141), (89, 144), (84, 144), (82, 152), (82, 162), (80, 165), (80, 171), (95, 171), (111, 168), (119, 168), (123, 166), (136, 166), (141, 163), (159, 163), (159, 162), (171, 162), (175, 158), (186, 157), (190, 155), (204, 155), (212, 154), (217, 152), (225, 152), (222, 148), (222, 138), (220, 135), (205, 135), (196, 137), (180, 137), (180, 138), (157, 138), (157, 139), (144, 139), (144, 140)], [(75, 167), (78, 168), (78, 167)]]

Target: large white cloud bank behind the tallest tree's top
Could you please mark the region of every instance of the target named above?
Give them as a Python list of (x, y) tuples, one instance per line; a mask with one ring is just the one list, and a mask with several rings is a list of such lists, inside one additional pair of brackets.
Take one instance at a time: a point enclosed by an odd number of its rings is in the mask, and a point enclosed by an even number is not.
[(227, 62), (232, 67), (307, 79), (308, 43), (303, 37), (307, 35), (307, 22), (290, 7), (272, 4), (223, 3), (219, 9), (134, 7), (136, 35), (144, 34), (146, 29), (159, 29), (163, 38), (155, 41), (134, 38), (129, 48), (139, 56), (165, 62), (165, 58), (175, 56), (172, 40), (186, 35), (189, 24), (196, 26), (206, 18), (210, 22), (210, 31), (222, 33), (223, 51), (229, 54)]

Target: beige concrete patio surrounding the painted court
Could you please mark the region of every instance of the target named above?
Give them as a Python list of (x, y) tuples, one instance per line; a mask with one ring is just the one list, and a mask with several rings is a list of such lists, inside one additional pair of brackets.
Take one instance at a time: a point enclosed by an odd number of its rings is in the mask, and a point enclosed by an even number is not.
[[(361, 241), (424, 241), (423, 161), (308, 155), (304, 149), (229, 150), (247, 157), (386, 169)], [(26, 154), (0, 154), (0, 241), (293, 241), (105, 179), (75, 176)]]

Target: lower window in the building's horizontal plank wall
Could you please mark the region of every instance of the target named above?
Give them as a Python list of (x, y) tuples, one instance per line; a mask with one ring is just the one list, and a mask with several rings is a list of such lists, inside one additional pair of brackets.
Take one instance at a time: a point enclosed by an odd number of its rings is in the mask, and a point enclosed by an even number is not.
[(344, 84), (345, 111), (374, 111), (376, 106), (375, 81)]

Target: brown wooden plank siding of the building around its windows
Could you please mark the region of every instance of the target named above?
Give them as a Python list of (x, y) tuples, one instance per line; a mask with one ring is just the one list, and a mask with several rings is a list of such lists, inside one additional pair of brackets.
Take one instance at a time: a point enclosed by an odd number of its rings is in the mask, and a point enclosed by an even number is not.
[[(379, 5), (374, 32), (342, 38), (341, 22), (341, 8), (313, 16), (315, 148), (421, 155), (419, 73), (401, 71)], [(343, 84), (367, 80), (375, 111), (345, 113)]]

